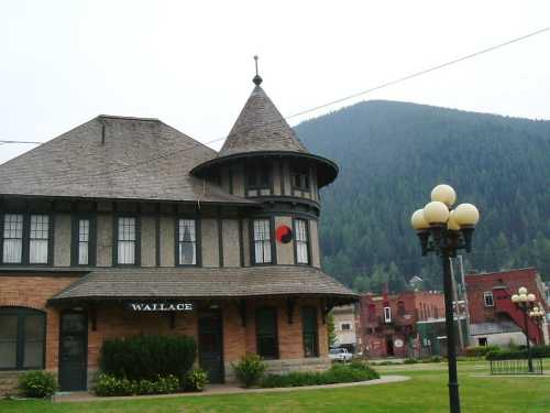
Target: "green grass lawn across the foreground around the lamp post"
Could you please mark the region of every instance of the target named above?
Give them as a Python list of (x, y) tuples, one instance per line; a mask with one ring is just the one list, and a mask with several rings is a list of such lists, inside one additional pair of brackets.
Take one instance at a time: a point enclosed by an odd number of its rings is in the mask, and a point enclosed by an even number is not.
[[(383, 374), (410, 376), (407, 382), (266, 394), (185, 396), (154, 400), (59, 403), (0, 401), (1, 413), (47, 412), (448, 412), (444, 365), (380, 367)], [(480, 369), (480, 367), (482, 369)], [(479, 378), (485, 361), (460, 362), (464, 413), (548, 413), (550, 377)], [(550, 369), (550, 360), (546, 365)]]

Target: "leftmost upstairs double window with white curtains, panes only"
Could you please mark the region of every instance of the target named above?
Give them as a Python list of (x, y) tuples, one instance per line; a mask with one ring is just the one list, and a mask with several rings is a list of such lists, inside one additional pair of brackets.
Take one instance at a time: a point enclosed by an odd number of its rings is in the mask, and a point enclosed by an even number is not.
[(47, 264), (51, 221), (47, 215), (4, 214), (2, 263)]

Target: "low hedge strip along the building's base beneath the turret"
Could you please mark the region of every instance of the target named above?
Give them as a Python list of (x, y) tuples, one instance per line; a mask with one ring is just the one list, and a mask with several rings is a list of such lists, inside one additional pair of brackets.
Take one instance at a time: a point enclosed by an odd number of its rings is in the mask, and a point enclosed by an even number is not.
[(287, 374), (268, 374), (261, 385), (263, 388), (294, 388), (302, 385), (322, 385), (350, 383), (380, 379), (376, 370), (360, 361), (349, 365), (334, 365), (327, 371), (293, 371)]

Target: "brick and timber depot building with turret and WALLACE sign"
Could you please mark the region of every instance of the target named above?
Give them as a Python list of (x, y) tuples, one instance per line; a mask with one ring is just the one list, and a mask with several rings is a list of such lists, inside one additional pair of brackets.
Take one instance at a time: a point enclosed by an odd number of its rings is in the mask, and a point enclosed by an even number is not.
[(157, 119), (98, 116), (0, 166), (0, 392), (28, 369), (88, 389), (105, 340), (187, 335), (211, 382), (262, 356), (329, 366), (311, 154), (261, 87), (216, 152)]

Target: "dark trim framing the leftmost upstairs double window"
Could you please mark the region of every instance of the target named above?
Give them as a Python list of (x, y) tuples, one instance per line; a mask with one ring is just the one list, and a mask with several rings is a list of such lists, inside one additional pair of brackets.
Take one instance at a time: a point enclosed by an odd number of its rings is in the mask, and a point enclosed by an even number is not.
[[(3, 228), (6, 215), (22, 215), (23, 216), (23, 238), (21, 243), (21, 262), (3, 262)], [(47, 216), (47, 262), (30, 263), (31, 254), (31, 216), (45, 215)], [(54, 263), (54, 228), (55, 215), (51, 211), (21, 211), (21, 210), (2, 210), (0, 213), (0, 267), (52, 267)]]

